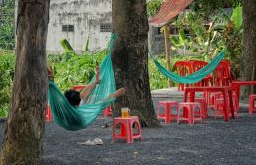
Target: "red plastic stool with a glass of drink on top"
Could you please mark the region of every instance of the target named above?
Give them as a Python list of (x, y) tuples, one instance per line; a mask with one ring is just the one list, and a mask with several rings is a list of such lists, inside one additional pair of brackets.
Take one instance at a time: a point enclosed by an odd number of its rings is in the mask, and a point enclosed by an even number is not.
[[(134, 138), (142, 140), (141, 125), (138, 116), (130, 116), (128, 118), (117, 117), (113, 121), (112, 140), (126, 139), (127, 143), (133, 143)], [(116, 133), (116, 126), (120, 124), (120, 133)], [(133, 124), (137, 125), (138, 133), (133, 133)]]

